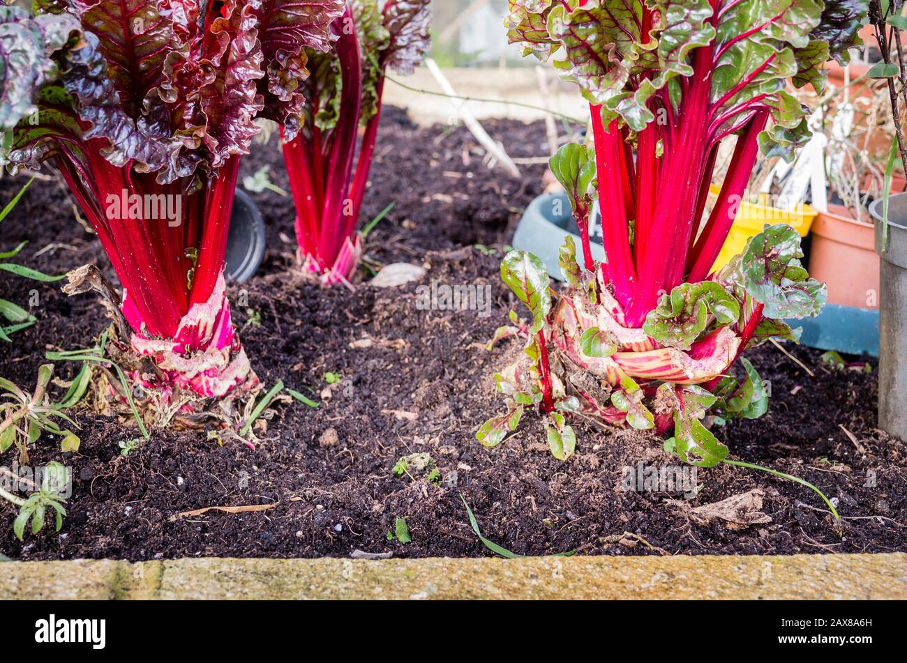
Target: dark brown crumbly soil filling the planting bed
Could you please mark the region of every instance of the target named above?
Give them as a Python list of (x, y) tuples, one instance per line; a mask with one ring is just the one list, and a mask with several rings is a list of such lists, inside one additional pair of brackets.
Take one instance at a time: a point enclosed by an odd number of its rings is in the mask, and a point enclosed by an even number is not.
[[(15, 511), (0, 504), (0, 552), (29, 560), (83, 557), (130, 560), (185, 556), (348, 556), (354, 550), (394, 556), (490, 554), (470, 529), (462, 494), (483, 533), (513, 552), (586, 554), (887, 552), (907, 550), (907, 449), (874, 428), (874, 373), (830, 372), (820, 352), (788, 350), (809, 377), (773, 346), (750, 353), (772, 384), (766, 417), (732, 423), (718, 436), (735, 458), (802, 476), (837, 500), (842, 525), (807, 488), (731, 466), (699, 470), (692, 506), (760, 488), (771, 522), (730, 529), (697, 524), (671, 499), (681, 495), (621, 490), (625, 466), (639, 461), (677, 465), (655, 437), (578, 426), (577, 453), (551, 456), (541, 420), (527, 415), (500, 447), (474, 439), (483, 419), (500, 408), (493, 372), (519, 348), (504, 342), (483, 349), (512, 307), (500, 283), (501, 249), (519, 210), (541, 189), (541, 166), (510, 178), (483, 165), (481, 150), (462, 128), (417, 129), (400, 111), (385, 118), (364, 215), (396, 207), (369, 237), (380, 263), (406, 261), (428, 269), (423, 283), (490, 284), (491, 315), (416, 308), (413, 283), (398, 289), (362, 285), (323, 290), (293, 272), (293, 208), (288, 197), (256, 195), (268, 223), (268, 255), (245, 289), (249, 310), (234, 317), (258, 376), (293, 389), (325, 387), (342, 376), (334, 395), (313, 410), (279, 404), (252, 451), (219, 446), (203, 433), (154, 430), (130, 456), (118, 442), (137, 437), (130, 424), (81, 412), (82, 447), (62, 454), (50, 437), (32, 453), (34, 464), (60, 460), (73, 468), (73, 497), (63, 530), (13, 536)], [(541, 125), (488, 122), (516, 157), (544, 153)], [(276, 141), (257, 146), (245, 172), (264, 164), (286, 187)], [(21, 180), (0, 180), (8, 200)], [(24, 261), (48, 272), (96, 261), (109, 273), (100, 246), (73, 217), (63, 189), (36, 181), (3, 223), (0, 250), (24, 238)], [(473, 245), (492, 246), (485, 255)], [(51, 246), (50, 249), (47, 247)], [(35, 253), (44, 251), (35, 257)], [(112, 276), (112, 274), (110, 274)], [(46, 349), (90, 345), (104, 328), (92, 296), (66, 298), (56, 286), (0, 276), (0, 297), (25, 303), (37, 291), (40, 322), (13, 345), (0, 345), (0, 375), (34, 381)], [(239, 295), (239, 286), (232, 295)], [(258, 322), (256, 322), (258, 320)], [(248, 323), (247, 323), (248, 322)], [(372, 339), (366, 349), (352, 341)], [(874, 368), (874, 363), (873, 363)], [(58, 373), (72, 376), (73, 367)], [(316, 399), (318, 397), (316, 396)], [(328, 428), (333, 434), (325, 436)], [(853, 439), (852, 439), (853, 437)], [(400, 456), (428, 452), (442, 483), (420, 474), (397, 477)], [(11, 453), (2, 459), (13, 460)], [(424, 473), (423, 473), (424, 474)], [(243, 514), (209, 512), (217, 505), (277, 504)], [(411, 543), (389, 542), (405, 518)]]

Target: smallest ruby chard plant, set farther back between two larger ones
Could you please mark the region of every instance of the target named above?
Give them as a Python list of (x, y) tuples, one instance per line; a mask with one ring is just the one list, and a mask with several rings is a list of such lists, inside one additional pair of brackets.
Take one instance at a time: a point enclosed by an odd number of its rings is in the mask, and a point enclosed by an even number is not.
[[(362, 255), (357, 232), (375, 155), (385, 72), (410, 74), (431, 46), (429, 0), (347, 0), (331, 51), (308, 50), (312, 75), (301, 129), (285, 125), (299, 257), (326, 284), (348, 283)], [(356, 155), (359, 131), (363, 132)], [(295, 137), (294, 137), (295, 136)]]

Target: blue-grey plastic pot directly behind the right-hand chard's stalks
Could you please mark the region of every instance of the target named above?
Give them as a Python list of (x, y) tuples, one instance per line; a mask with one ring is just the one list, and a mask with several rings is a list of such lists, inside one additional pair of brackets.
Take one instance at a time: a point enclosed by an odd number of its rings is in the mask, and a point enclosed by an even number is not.
[[(601, 246), (601, 225), (598, 203), (590, 220), (590, 248), (595, 260), (604, 260), (605, 250)], [(563, 281), (558, 252), (564, 237), (572, 235), (576, 243), (577, 258), (582, 259), (580, 235), (576, 232), (576, 221), (570, 207), (570, 200), (564, 193), (542, 194), (535, 198), (522, 215), (520, 225), (513, 235), (513, 248), (538, 255), (545, 264), (552, 279)]]

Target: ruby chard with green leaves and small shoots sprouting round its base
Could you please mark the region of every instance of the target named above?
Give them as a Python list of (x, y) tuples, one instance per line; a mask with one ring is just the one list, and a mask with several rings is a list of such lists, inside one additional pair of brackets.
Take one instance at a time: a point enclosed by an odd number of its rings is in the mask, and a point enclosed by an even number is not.
[[(790, 158), (809, 138), (788, 82), (821, 89), (822, 63), (844, 61), (857, 43), (865, 2), (511, 0), (510, 10), (511, 41), (543, 60), (558, 53), (555, 66), (590, 102), (594, 147), (568, 145), (551, 159), (581, 238), (561, 248), (564, 292), (551, 293), (535, 256), (504, 259), (504, 282), (532, 312), (522, 325), (530, 361), (496, 377), (507, 412), (478, 437), (497, 444), (537, 407), (555, 456), (575, 445), (572, 416), (673, 430), (666, 447), (714, 466), (727, 447), (704, 425), (707, 413), (766, 410), (756, 370), (742, 360), (736, 380), (731, 366), (768, 337), (796, 340), (783, 321), (816, 315), (825, 288), (806, 274), (787, 225), (766, 226), (730, 264), (713, 264), (760, 149)], [(731, 139), (706, 216), (717, 150)], [(600, 264), (589, 244), (595, 197)]]

